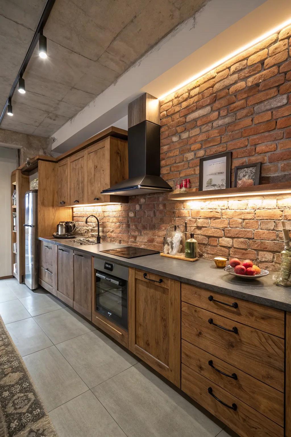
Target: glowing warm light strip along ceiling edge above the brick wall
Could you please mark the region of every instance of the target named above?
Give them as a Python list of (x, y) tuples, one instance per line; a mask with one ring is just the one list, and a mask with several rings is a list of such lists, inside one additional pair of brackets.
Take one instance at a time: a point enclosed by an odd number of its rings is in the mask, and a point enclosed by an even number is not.
[(219, 61), (215, 62), (211, 66), (205, 68), (204, 70), (200, 71), (199, 73), (195, 74), (194, 76), (190, 77), (189, 79), (185, 80), (184, 82), (180, 83), (176, 87), (172, 88), (167, 93), (163, 94), (162, 96), (158, 97), (159, 100), (163, 100), (165, 97), (169, 96), (172, 93), (175, 93), (175, 91), (180, 90), (181, 88), (185, 87), (191, 82), (194, 82), (194, 80), (200, 79), (202, 76), (204, 76), (206, 73), (209, 73), (213, 69), (217, 68), (218, 66), (224, 64), (224, 62), (229, 61), (229, 59), (234, 58), (235, 56), (239, 55), (240, 53), (245, 52), (247, 49), (250, 49), (250, 47), (253, 47), (254, 45), (258, 44), (259, 42), (264, 41), (269, 36), (274, 35), (274, 33), (277, 33), (278, 31), (281, 31), (285, 27), (289, 26), (291, 24), (291, 18), (284, 21), (284, 23), (279, 24), (277, 27), (270, 29), (263, 35), (260, 35), (258, 38), (253, 39), (243, 47), (240, 47), (239, 49), (235, 50), (232, 53), (229, 53), (229, 55), (226, 55), (224, 58), (219, 59)]

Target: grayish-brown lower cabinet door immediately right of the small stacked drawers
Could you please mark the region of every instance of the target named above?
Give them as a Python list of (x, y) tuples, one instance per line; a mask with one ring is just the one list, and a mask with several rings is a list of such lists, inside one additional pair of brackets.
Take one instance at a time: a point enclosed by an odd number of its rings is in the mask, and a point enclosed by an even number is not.
[(66, 304), (73, 306), (74, 300), (74, 259), (71, 249), (58, 247), (58, 293)]

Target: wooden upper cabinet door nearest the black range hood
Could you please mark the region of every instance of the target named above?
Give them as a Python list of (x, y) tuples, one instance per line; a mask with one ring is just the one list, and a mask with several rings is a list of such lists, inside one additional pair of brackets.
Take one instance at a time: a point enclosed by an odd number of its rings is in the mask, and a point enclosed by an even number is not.
[(109, 167), (106, 172), (105, 143), (100, 141), (88, 148), (88, 203), (104, 202), (101, 191), (106, 187), (106, 177), (109, 178)]

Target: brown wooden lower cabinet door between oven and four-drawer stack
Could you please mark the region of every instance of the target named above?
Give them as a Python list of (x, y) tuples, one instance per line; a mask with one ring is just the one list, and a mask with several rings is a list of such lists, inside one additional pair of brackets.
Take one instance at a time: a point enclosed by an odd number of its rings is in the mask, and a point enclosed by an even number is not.
[(181, 283), (130, 268), (129, 349), (180, 387)]

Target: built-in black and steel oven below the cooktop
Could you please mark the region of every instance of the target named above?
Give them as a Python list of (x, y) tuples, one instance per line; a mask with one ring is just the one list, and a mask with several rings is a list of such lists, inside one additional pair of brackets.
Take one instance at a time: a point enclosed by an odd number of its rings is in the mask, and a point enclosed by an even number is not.
[(127, 329), (128, 267), (95, 258), (96, 311)]

